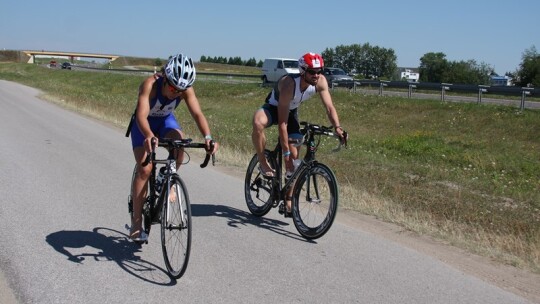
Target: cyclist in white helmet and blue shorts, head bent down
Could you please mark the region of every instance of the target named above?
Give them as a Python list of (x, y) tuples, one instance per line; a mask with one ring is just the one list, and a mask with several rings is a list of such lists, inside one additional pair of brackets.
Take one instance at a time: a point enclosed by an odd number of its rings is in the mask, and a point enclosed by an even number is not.
[[(210, 149), (212, 140), (210, 127), (192, 87), (195, 77), (195, 66), (191, 58), (178, 54), (169, 58), (161, 73), (148, 77), (139, 87), (134, 120), (128, 129), (131, 133), (135, 161), (139, 165), (133, 181), (133, 222), (130, 231), (130, 238), (133, 240), (144, 241), (147, 238), (141, 228), (141, 214), (152, 165), (142, 166), (142, 163), (152, 151), (153, 139), (184, 138), (182, 128), (174, 117), (174, 110), (182, 100), (185, 101), (193, 120), (204, 136), (207, 150)], [(215, 153), (217, 148), (216, 143), (214, 150), (208, 153)], [(184, 154), (178, 153), (177, 167), (182, 164), (183, 158)]]

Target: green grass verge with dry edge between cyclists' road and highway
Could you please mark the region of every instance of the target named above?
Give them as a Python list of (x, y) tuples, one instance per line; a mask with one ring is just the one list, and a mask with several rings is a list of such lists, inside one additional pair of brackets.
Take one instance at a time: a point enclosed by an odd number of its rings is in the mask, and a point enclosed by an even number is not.
[[(0, 64), (0, 79), (121, 127), (143, 78)], [(269, 88), (201, 77), (195, 89), (221, 143), (221, 164), (241, 172), (253, 153), (251, 116)], [(332, 95), (350, 148), (332, 153), (337, 143), (323, 140), (318, 156), (338, 177), (342, 208), (540, 273), (540, 111)], [(177, 117), (188, 136), (200, 139), (184, 106)], [(328, 124), (318, 98), (301, 107), (300, 117)], [(269, 145), (275, 129), (268, 130)]]

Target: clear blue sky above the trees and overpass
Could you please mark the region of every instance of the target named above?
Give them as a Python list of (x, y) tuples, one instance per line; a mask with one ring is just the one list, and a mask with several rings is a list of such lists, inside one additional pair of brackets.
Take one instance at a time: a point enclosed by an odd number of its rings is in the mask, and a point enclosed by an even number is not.
[(0, 0), (0, 49), (262, 60), (364, 43), (400, 67), (442, 52), (504, 74), (540, 50), (540, 1)]

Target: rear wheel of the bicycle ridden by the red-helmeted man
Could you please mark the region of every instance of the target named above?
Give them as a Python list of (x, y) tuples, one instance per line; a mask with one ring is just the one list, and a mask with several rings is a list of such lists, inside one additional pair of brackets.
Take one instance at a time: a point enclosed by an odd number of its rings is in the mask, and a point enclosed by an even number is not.
[[(272, 168), (277, 168), (276, 160), (269, 157), (270, 151), (264, 152), (266, 159), (270, 163)], [(255, 154), (249, 162), (246, 179), (244, 181), (244, 195), (246, 198), (246, 204), (251, 212), (255, 216), (264, 216), (273, 207), (273, 187), (274, 179), (265, 178), (259, 172), (259, 158)]]

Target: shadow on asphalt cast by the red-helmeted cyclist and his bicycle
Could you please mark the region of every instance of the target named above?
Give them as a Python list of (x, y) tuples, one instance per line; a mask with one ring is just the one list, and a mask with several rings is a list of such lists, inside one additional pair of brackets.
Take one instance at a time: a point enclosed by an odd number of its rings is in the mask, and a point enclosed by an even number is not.
[(290, 232), (284, 227), (290, 225), (288, 222), (281, 220), (265, 218), (263, 216), (257, 217), (250, 212), (246, 212), (237, 208), (233, 208), (227, 205), (213, 205), (213, 204), (191, 204), (191, 215), (193, 217), (202, 216), (217, 216), (227, 220), (227, 225), (233, 228), (240, 228), (240, 226), (254, 226), (257, 228), (267, 229), (283, 236), (304, 241), (306, 243), (316, 244), (314, 240), (308, 240), (302, 236)]

